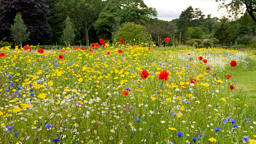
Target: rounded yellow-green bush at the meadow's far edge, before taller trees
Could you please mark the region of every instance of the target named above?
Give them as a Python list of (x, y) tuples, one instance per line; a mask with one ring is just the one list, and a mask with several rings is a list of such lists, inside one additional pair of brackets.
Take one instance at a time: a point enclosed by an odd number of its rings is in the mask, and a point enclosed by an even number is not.
[(142, 25), (138, 25), (131, 22), (122, 24), (118, 32), (116, 32), (114, 39), (119, 41), (123, 39), (125, 42), (137, 43), (148, 42), (149, 35), (146, 32), (146, 28)]

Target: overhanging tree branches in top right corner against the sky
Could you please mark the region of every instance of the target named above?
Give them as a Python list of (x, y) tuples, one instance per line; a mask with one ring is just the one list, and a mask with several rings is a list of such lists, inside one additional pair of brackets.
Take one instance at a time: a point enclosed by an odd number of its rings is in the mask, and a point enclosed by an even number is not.
[[(216, 0), (216, 2), (225, 1), (225, 0)], [(232, 13), (232, 15), (237, 16), (242, 13), (242, 10), (245, 6), (246, 12), (249, 14), (250, 18), (256, 25), (256, 1), (255, 0), (231, 0), (230, 3), (223, 5), (220, 8), (225, 7), (227, 12)]]

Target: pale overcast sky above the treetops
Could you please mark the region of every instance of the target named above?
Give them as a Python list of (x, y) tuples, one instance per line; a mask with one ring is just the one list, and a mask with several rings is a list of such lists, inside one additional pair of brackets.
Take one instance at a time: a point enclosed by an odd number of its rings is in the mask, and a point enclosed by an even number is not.
[[(225, 1), (225, 3), (231, 0)], [(227, 15), (224, 8), (218, 11), (220, 2), (215, 0), (144, 0), (144, 3), (151, 8), (156, 8), (158, 12), (158, 18), (160, 20), (171, 21), (179, 18), (182, 11), (186, 10), (189, 6), (193, 9), (200, 8), (203, 14), (211, 14), (211, 17), (221, 18), (222, 15)], [(206, 18), (205, 17), (205, 18)]]

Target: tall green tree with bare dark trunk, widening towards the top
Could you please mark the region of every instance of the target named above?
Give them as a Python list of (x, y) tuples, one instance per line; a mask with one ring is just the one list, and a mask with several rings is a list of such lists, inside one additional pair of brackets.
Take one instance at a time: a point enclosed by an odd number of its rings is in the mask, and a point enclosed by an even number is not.
[[(57, 8), (60, 15), (69, 16), (76, 29), (83, 29), (86, 45), (89, 45), (89, 30), (94, 25), (104, 7), (101, 0), (59, 0)], [(68, 10), (68, 11), (67, 11)]]

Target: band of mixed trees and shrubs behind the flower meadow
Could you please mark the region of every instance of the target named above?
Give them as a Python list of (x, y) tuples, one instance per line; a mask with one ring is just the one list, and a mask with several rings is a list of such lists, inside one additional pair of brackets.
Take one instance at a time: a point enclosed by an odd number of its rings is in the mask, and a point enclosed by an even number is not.
[(231, 21), (188, 7), (179, 19), (167, 22), (157, 19), (156, 10), (142, 0), (0, 0), (0, 6), (2, 46), (4, 42), (21, 43), (12, 28), (19, 13), (29, 33), (25, 44), (30, 45), (90, 45), (99, 38), (159, 45), (168, 37), (169, 45), (256, 44), (256, 24), (247, 12)]

